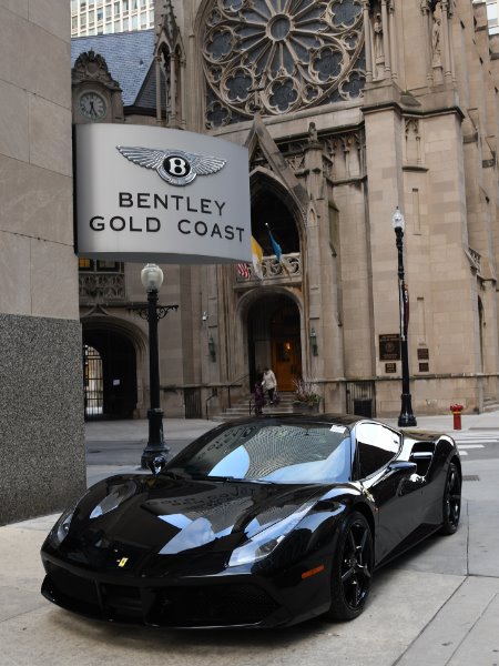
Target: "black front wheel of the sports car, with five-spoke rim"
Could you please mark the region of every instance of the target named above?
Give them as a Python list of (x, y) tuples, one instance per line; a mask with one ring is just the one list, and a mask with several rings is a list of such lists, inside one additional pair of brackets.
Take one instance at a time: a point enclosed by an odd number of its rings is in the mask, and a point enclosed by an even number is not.
[(333, 558), (330, 607), (326, 617), (354, 619), (364, 610), (373, 575), (373, 535), (363, 514), (349, 514), (340, 529)]

